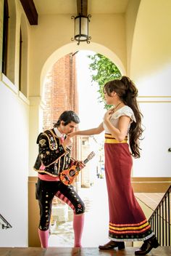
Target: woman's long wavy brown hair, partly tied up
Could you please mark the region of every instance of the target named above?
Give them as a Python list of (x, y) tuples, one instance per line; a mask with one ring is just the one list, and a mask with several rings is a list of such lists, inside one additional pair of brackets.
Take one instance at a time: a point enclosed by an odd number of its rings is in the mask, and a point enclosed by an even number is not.
[(136, 97), (138, 96), (138, 89), (135, 87), (133, 81), (128, 78), (128, 76), (122, 76), (121, 79), (114, 79), (112, 81), (108, 81), (107, 84), (104, 84), (104, 90), (109, 96), (112, 92), (116, 92), (120, 97), (120, 100), (122, 100), (125, 105), (132, 108), (136, 122), (133, 121), (130, 124), (130, 150), (133, 157), (139, 158), (141, 150), (139, 147), (139, 140), (142, 140), (141, 135), (143, 133), (143, 129), (141, 127), (141, 117), (143, 115), (138, 109), (136, 100)]

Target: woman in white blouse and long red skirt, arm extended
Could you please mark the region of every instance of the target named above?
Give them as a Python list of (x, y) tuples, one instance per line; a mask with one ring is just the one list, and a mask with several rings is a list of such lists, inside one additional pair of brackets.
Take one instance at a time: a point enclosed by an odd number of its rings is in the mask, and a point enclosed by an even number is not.
[(143, 241), (135, 255), (146, 255), (159, 243), (135, 199), (130, 182), (132, 157), (140, 157), (141, 112), (136, 97), (138, 90), (127, 76), (104, 85), (104, 97), (113, 105), (99, 127), (72, 132), (74, 135), (96, 135), (105, 130), (105, 174), (109, 200), (109, 239), (99, 249), (125, 248), (125, 241)]

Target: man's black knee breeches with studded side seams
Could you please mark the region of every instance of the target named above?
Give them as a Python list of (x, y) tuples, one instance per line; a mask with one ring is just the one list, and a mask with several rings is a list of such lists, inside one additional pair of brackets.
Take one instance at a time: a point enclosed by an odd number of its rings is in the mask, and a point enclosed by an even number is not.
[(64, 185), (60, 181), (44, 181), (38, 179), (36, 184), (36, 199), (40, 208), (39, 228), (46, 231), (49, 228), (51, 220), (51, 204), (54, 196), (68, 204), (75, 215), (85, 212), (83, 201), (74, 190), (73, 186)]

